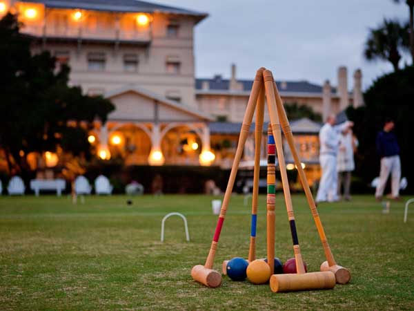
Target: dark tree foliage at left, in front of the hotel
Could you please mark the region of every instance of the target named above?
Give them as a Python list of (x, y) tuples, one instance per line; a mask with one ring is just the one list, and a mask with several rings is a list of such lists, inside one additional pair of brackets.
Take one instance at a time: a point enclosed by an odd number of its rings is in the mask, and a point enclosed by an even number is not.
[(59, 146), (73, 156), (88, 157), (92, 121), (106, 122), (115, 107), (103, 97), (68, 86), (70, 68), (58, 70), (48, 51), (31, 55), (31, 40), (19, 28), (14, 15), (0, 20), (0, 148), (6, 151), (9, 168), (24, 169), (21, 150), (27, 154)]

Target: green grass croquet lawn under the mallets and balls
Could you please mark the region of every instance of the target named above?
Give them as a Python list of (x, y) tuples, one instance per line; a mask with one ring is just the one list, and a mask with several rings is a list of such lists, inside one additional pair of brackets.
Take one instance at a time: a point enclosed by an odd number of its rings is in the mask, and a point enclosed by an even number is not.
[[(334, 290), (273, 294), (268, 285), (234, 282), (206, 288), (190, 276), (206, 259), (217, 216), (211, 196), (0, 197), (0, 310), (414, 310), (414, 211), (391, 213), (372, 196), (322, 204), (319, 214), (336, 260), (351, 270)], [(293, 196), (299, 243), (308, 271), (324, 261), (304, 196)], [(293, 256), (282, 194), (277, 194), (276, 254)], [(160, 242), (161, 219), (170, 218)], [(233, 196), (215, 268), (247, 257), (250, 207)], [(266, 204), (260, 197), (257, 256), (266, 256)]]

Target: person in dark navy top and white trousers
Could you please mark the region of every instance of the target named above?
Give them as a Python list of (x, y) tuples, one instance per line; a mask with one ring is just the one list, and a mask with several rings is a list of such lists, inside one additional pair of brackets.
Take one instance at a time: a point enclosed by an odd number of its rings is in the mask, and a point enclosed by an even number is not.
[(397, 200), (400, 198), (400, 179), (401, 179), (401, 162), (400, 146), (397, 137), (393, 133), (394, 121), (387, 118), (384, 122), (384, 128), (377, 135), (376, 145), (377, 153), (381, 158), (380, 181), (375, 191), (375, 198), (382, 199), (386, 181), (391, 173), (391, 196)]

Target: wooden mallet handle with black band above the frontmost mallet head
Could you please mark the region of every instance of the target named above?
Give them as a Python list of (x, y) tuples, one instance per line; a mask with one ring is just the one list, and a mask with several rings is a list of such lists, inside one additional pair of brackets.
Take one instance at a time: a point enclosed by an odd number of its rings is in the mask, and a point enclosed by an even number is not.
[(286, 211), (288, 213), (288, 220), (290, 224), (290, 233), (293, 240), (293, 252), (295, 254), (296, 271), (299, 274), (305, 273), (304, 263), (302, 260), (302, 254), (300, 252), (299, 241), (297, 239), (295, 214), (293, 213), (292, 198), (290, 197), (289, 180), (286, 172), (286, 163), (284, 160), (283, 146), (282, 146), (282, 133), (280, 131), (279, 116), (277, 115), (275, 91), (273, 90), (273, 84), (275, 81), (270, 70), (265, 70), (264, 86), (266, 89), (266, 99), (268, 103), (268, 110), (270, 115), (270, 122), (272, 124), (273, 137), (276, 142), (277, 160), (279, 161), (280, 175), (282, 177), (282, 185), (284, 192), (284, 199), (286, 204)]

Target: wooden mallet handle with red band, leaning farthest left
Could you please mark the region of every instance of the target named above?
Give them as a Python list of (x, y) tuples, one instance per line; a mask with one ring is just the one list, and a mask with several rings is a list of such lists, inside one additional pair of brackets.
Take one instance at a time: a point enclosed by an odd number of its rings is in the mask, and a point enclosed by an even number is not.
[(244, 144), (246, 142), (248, 132), (250, 131), (250, 125), (252, 124), (257, 98), (259, 97), (259, 91), (263, 87), (263, 70), (264, 68), (259, 68), (259, 70), (257, 70), (255, 81), (253, 82), (252, 91), (250, 92), (250, 97), (248, 99), (246, 113), (244, 113), (244, 119), (242, 129), (240, 130), (239, 143), (237, 144), (235, 160), (233, 161), (233, 166), (231, 167), (230, 171), (230, 177), (228, 178), (226, 193), (224, 194), (223, 203), (221, 204), (220, 215), (219, 219), (217, 220), (217, 226), (215, 229), (215, 234), (213, 236), (213, 241), (210, 246), (210, 252), (208, 252), (206, 263), (204, 264), (204, 267), (208, 269), (213, 268), (215, 252), (217, 249), (217, 244), (219, 242), (221, 228), (223, 227), (224, 218), (226, 217), (228, 202), (233, 191), (233, 185), (235, 183), (237, 169), (239, 168), (240, 159), (242, 158), (243, 154)]

